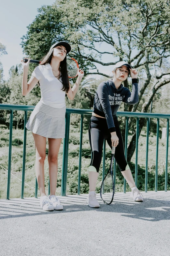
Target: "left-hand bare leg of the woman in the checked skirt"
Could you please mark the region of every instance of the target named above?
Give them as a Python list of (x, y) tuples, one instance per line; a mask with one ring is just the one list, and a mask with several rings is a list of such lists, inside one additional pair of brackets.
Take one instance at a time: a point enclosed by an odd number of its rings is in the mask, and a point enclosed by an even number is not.
[(33, 133), (35, 142), (35, 174), (38, 182), (38, 187), (41, 196), (45, 196), (45, 183), (44, 183), (44, 161), (46, 158), (46, 138)]

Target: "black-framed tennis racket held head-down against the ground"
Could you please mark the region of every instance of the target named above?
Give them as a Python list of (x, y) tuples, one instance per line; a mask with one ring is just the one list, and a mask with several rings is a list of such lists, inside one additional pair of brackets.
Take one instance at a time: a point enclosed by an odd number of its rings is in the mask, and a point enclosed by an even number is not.
[(116, 147), (114, 146), (112, 147), (110, 168), (100, 188), (100, 197), (102, 198), (102, 201), (106, 204), (112, 203), (114, 198), (114, 193), (115, 193), (115, 186), (114, 186), (114, 180), (113, 180), (113, 161), (114, 161), (114, 155), (115, 155), (115, 148)]

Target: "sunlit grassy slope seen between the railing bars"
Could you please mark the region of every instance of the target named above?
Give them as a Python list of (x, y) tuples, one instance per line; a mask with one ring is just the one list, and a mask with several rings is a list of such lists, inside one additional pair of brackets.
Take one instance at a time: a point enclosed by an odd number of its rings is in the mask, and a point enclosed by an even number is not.
[[(144, 190), (145, 182), (145, 161), (146, 161), (146, 131), (142, 131), (139, 137), (139, 150), (138, 150), (138, 186)], [(68, 178), (67, 178), (67, 193), (77, 193), (78, 186), (78, 156), (79, 156), (79, 129), (72, 127), (70, 128), (70, 141), (69, 141), (69, 159), (68, 159)], [(131, 139), (131, 134), (128, 136), (128, 142)], [(20, 143), (23, 141), (23, 130), (13, 129), (13, 145), (12, 145), (12, 162), (11, 162), (11, 183), (10, 183), (10, 197), (21, 196), (21, 181), (22, 178), (22, 145), (18, 145), (18, 138)], [(8, 141), (9, 141), (9, 130), (5, 127), (0, 129), (0, 197), (6, 198), (7, 193), (7, 171), (4, 168), (8, 168)], [(20, 144), (19, 143), (19, 144)], [(47, 150), (48, 154), (48, 143)], [(164, 171), (165, 171), (165, 156), (166, 156), (166, 140), (159, 141), (159, 162), (158, 162), (158, 190), (164, 189)], [(60, 194), (61, 186), (61, 171), (62, 171), (62, 157), (63, 157), (63, 144), (61, 145), (59, 158), (58, 158), (58, 184), (56, 194)], [(82, 169), (81, 169), (81, 193), (88, 192), (88, 167), (90, 164), (91, 150), (88, 140), (87, 130), (83, 133), (83, 147), (82, 147)], [(148, 176), (148, 190), (154, 190), (154, 179), (155, 179), (155, 158), (156, 158), (156, 136), (151, 134), (149, 137), (149, 176)], [(134, 175), (135, 171), (135, 154), (130, 163), (131, 170)], [(106, 169), (110, 164), (110, 149), (106, 145)], [(4, 168), (3, 168), (3, 167)], [(168, 169), (170, 172), (170, 168)], [(17, 179), (17, 178), (19, 179)], [(168, 173), (169, 177), (169, 173)], [(97, 182), (97, 191), (100, 189), (102, 179), (102, 165), (100, 167), (99, 178)], [(123, 179), (122, 175), (117, 168), (116, 178), (116, 190), (123, 191)], [(25, 163), (25, 184), (24, 196), (35, 195), (35, 147), (33, 136), (30, 131), (27, 131), (27, 146), (26, 146), (26, 163)], [(170, 181), (169, 181), (170, 182)], [(45, 185), (46, 192), (48, 193), (48, 160), (45, 160)], [(170, 188), (170, 185), (168, 185)], [(127, 191), (129, 187), (127, 186)], [(39, 191), (38, 191), (39, 195)]]

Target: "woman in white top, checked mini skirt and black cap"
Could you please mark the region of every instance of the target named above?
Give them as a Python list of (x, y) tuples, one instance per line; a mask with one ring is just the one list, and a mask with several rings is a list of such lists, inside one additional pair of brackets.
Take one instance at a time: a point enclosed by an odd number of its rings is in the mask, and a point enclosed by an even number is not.
[[(39, 82), (41, 99), (35, 106), (26, 124), (35, 142), (35, 173), (40, 190), (40, 206), (43, 210), (63, 210), (63, 205), (55, 196), (58, 173), (58, 153), (65, 136), (65, 94), (73, 100), (84, 72), (78, 70), (78, 78), (71, 88), (67, 74), (66, 55), (71, 51), (67, 42), (55, 43), (38, 65), (28, 81), (29, 61), (23, 65), (22, 95), (26, 96)], [(46, 158), (46, 138), (49, 142), (50, 196), (46, 196), (44, 182), (44, 161)]]

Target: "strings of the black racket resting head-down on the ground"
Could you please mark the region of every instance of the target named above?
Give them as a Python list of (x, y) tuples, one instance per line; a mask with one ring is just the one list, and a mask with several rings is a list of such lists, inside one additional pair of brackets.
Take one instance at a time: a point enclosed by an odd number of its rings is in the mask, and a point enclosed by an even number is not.
[(104, 179), (101, 187), (101, 196), (104, 202), (109, 204), (112, 202), (113, 199), (113, 194), (114, 194), (114, 184), (112, 180), (112, 175), (109, 172)]

